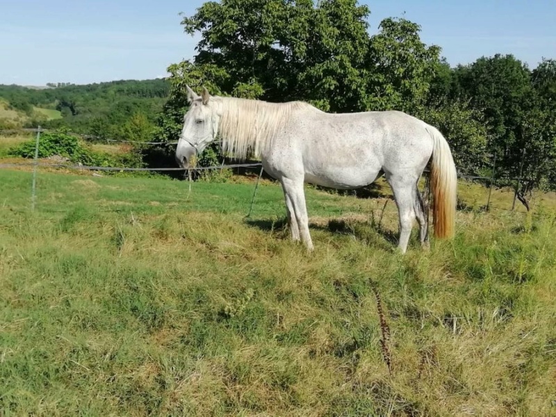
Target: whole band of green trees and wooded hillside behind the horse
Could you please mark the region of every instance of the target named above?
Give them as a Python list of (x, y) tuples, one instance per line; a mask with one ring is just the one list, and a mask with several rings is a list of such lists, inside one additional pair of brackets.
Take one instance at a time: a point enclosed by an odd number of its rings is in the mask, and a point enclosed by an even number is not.
[[(522, 199), (556, 189), (556, 60), (533, 68), (512, 54), (450, 66), (441, 45), (420, 39), (418, 22), (386, 17), (378, 31), (356, 0), (207, 2), (181, 25), (200, 38), (167, 80), (0, 88), (24, 106), (56, 108), (67, 125), (101, 137), (174, 142), (187, 110), (186, 85), (212, 94), (303, 100), (329, 112), (396, 109), (437, 126), (459, 172), (496, 183), (521, 176)], [(10, 96), (10, 94), (12, 94)], [(23, 104), (22, 104), (23, 103)], [(161, 147), (171, 158), (172, 147)], [(218, 147), (207, 152), (218, 158)]]

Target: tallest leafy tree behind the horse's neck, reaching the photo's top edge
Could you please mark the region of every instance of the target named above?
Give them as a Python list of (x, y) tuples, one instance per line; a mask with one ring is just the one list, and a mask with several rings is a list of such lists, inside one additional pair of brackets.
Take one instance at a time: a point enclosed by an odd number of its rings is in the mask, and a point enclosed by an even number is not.
[(354, 0), (222, 0), (204, 3), (182, 24), (201, 33), (195, 65), (225, 73), (217, 90), (348, 111), (365, 90), (368, 13)]

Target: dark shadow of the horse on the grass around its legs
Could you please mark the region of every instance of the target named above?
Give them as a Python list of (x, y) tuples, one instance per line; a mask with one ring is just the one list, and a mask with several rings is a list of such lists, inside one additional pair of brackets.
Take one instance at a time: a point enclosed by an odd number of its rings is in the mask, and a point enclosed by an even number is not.
[[(245, 223), (251, 227), (256, 227), (263, 231), (281, 231), (286, 233), (288, 231), (288, 220), (287, 218), (281, 219), (251, 219), (246, 218)], [(327, 231), (332, 234), (341, 234), (354, 236), (357, 240), (361, 240), (365, 243), (370, 243), (373, 240), (371, 234), (381, 236), (386, 242), (392, 245), (398, 245), (398, 235), (393, 231), (384, 229), (380, 222), (376, 222), (372, 217), (370, 222), (362, 222), (359, 220), (341, 220), (341, 219), (331, 219), (327, 223), (322, 222), (311, 222), (309, 219), (309, 229), (316, 229), (321, 231)], [(369, 234), (371, 232), (371, 234)]]

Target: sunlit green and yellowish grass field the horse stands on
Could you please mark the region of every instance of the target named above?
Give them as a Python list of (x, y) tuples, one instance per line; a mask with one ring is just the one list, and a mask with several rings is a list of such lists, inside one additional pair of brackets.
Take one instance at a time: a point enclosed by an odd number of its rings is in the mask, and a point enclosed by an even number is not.
[(2, 414), (556, 415), (553, 199), (462, 184), (455, 239), (402, 256), (382, 190), (308, 187), (308, 254), (243, 182), (40, 172), (31, 212), (0, 170)]

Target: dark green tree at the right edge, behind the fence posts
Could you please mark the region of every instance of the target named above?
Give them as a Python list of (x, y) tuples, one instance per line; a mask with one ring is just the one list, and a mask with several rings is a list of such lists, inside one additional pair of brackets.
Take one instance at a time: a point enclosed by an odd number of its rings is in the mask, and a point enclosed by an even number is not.
[(553, 176), (554, 68), (545, 60), (531, 72), (514, 56), (497, 54), (455, 71), (455, 92), (484, 115), (488, 150), (498, 156), (499, 185), (513, 186), (522, 171), (518, 197), (527, 207), (532, 190), (548, 186)]

